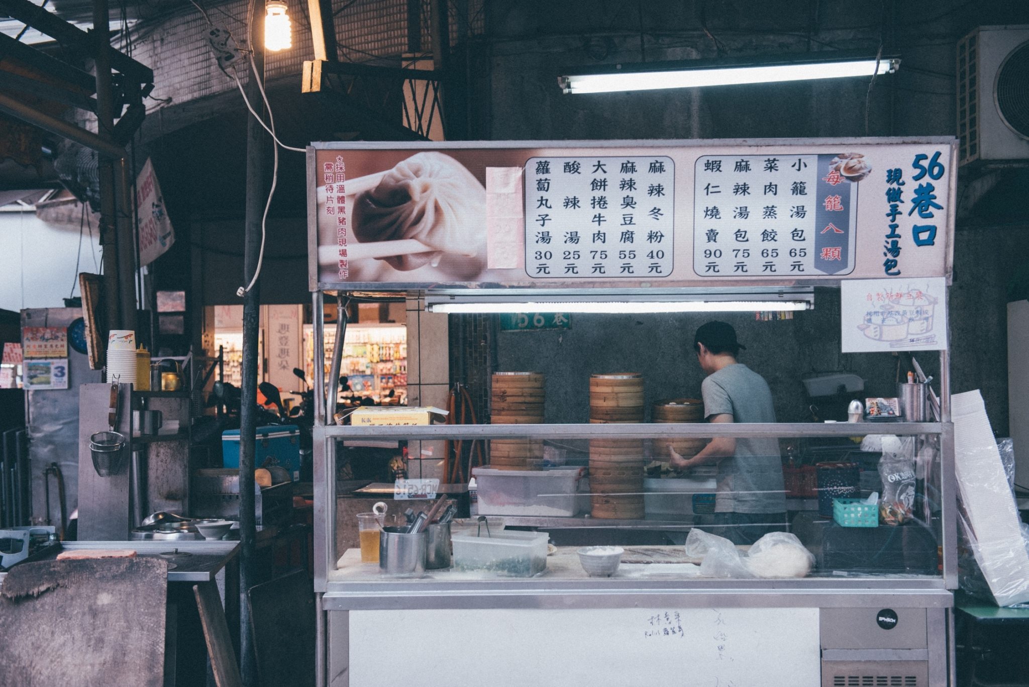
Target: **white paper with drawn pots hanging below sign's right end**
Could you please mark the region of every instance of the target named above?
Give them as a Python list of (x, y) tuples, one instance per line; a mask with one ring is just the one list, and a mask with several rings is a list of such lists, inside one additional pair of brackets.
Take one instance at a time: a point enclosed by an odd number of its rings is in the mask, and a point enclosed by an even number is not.
[(946, 350), (946, 298), (943, 277), (844, 281), (843, 352)]

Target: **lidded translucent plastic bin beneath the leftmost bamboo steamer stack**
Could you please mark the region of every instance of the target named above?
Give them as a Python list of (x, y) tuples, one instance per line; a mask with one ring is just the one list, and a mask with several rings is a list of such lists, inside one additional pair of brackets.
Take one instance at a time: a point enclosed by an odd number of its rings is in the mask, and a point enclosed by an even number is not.
[(493, 470), (473, 468), (481, 515), (571, 517), (590, 503), (581, 468)]

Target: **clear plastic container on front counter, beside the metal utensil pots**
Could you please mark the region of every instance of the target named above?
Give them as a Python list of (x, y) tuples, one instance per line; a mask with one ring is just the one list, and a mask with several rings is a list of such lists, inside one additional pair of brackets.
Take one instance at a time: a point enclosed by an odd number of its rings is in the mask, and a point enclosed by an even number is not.
[(482, 571), (499, 577), (532, 577), (546, 570), (545, 531), (495, 531), (486, 528), (455, 533), (454, 568), (463, 572)]

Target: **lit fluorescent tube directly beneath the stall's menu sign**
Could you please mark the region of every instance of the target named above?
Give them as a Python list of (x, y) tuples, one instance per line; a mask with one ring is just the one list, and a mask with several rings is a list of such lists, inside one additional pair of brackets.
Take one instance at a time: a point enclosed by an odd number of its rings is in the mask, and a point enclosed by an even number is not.
[(808, 310), (808, 301), (453, 301), (426, 303), (429, 312), (446, 313), (669, 313), (769, 312)]

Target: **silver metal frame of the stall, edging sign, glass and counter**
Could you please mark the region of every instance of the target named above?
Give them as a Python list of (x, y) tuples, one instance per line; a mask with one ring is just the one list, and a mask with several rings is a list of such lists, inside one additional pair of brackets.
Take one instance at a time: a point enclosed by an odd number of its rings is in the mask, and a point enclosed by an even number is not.
[[(900, 142), (899, 139), (858, 139), (861, 142)], [(825, 140), (797, 139), (773, 141), (826, 143)], [(840, 144), (857, 141), (833, 141)], [(912, 142), (910, 139), (903, 141)], [(952, 145), (951, 169), (955, 169), (953, 139), (929, 138), (915, 141)], [(552, 146), (568, 146), (580, 142), (553, 142)], [(614, 146), (619, 141), (604, 141), (596, 145)], [(638, 142), (630, 142), (638, 143)], [(653, 142), (647, 142), (653, 144)], [(680, 143), (680, 142), (676, 142)], [(681, 143), (710, 145), (712, 141), (685, 141)], [(717, 141), (725, 143), (725, 141)], [(755, 141), (735, 141), (738, 144), (753, 145)], [(761, 142), (765, 143), (764, 141)], [(314, 175), (314, 151), (332, 144), (318, 143), (309, 148), (309, 179)], [(364, 144), (366, 147), (418, 147), (417, 144)], [(461, 144), (457, 144), (461, 145)], [(475, 142), (478, 147), (494, 147), (496, 143)], [(543, 144), (537, 144), (543, 145)], [(446, 148), (447, 144), (433, 144), (433, 148)], [(953, 249), (953, 199), (955, 198), (956, 174), (950, 177), (951, 206), (947, 208), (947, 239), (949, 249)], [(309, 184), (309, 193), (310, 193)], [(312, 275), (317, 273), (317, 227), (315, 212), (309, 208), (309, 247)], [(950, 266), (948, 257), (948, 288)], [(766, 284), (767, 285), (767, 284)], [(795, 285), (784, 280), (782, 287)], [(837, 282), (821, 282), (819, 285), (835, 285)], [(344, 291), (340, 284), (318, 282), (312, 276), (313, 321), (315, 350), (322, 350), (324, 328), (324, 303), (327, 294), (335, 294), (343, 302)], [(432, 294), (433, 286), (420, 284), (421, 291)], [(369, 283), (347, 284), (353, 291), (383, 291), (381, 285)], [(399, 289), (393, 289), (398, 290)], [(403, 289), (403, 290), (419, 290)], [(469, 293), (477, 289), (468, 289)], [(556, 289), (534, 289), (542, 294), (560, 293)], [(674, 290), (674, 289), (673, 289)], [(696, 288), (678, 289), (682, 293)], [(733, 288), (712, 288), (718, 294), (732, 293)], [(574, 291), (563, 291), (565, 295)], [(591, 291), (596, 293), (596, 291)], [(944, 307), (948, 308), (947, 299)], [(344, 310), (341, 309), (341, 313)], [(338, 346), (343, 341), (346, 330), (345, 316), (336, 323)], [(947, 333), (949, 338), (949, 332)], [(948, 342), (949, 343), (949, 342)], [(339, 358), (335, 352), (333, 366)], [(945, 348), (939, 351), (939, 421), (938, 422), (897, 422), (889, 425), (877, 423), (777, 423), (777, 424), (519, 424), (519, 425), (438, 425), (438, 426), (340, 426), (332, 423), (332, 406), (335, 393), (334, 378), (326, 380), (323, 365), (315, 365), (316, 389), (324, 389), (329, 383), (327, 401), (320, 393), (315, 394), (316, 426), (314, 428), (314, 546), (315, 546), (315, 592), (317, 596), (318, 623), (316, 651), (317, 684), (319, 687), (351, 685), (350, 659), (350, 613), (364, 611), (473, 611), (533, 609), (546, 610), (611, 610), (612, 613), (625, 609), (678, 608), (678, 609), (818, 609), (820, 611), (822, 683), (827, 685), (850, 684), (901, 684), (906, 687), (921, 687), (923, 684), (943, 687), (952, 684), (956, 676), (954, 665), (954, 616), (953, 589), (957, 588), (957, 518), (956, 478), (954, 472), (954, 427), (950, 410), (950, 358)], [(445, 440), (445, 439), (598, 439), (598, 438), (713, 438), (731, 436), (737, 438), (791, 437), (831, 438), (857, 437), (882, 434), (888, 427), (889, 434), (903, 436), (935, 436), (939, 441), (939, 516), (943, 571), (938, 576), (883, 576), (855, 578), (807, 578), (800, 580), (732, 580), (732, 579), (681, 579), (658, 580), (616, 580), (596, 579), (557, 580), (542, 578), (497, 579), (488, 581), (432, 581), (411, 579), (384, 579), (382, 581), (333, 581), (329, 572), (335, 570), (336, 531), (336, 490), (335, 490), (335, 446), (340, 440)], [(519, 524), (531, 518), (519, 518)], [(543, 519), (540, 518), (542, 521)], [(906, 613), (914, 613), (922, 618), (914, 644), (877, 643), (873, 639), (864, 641), (840, 641), (840, 623), (853, 619), (854, 611), (876, 613), (879, 609), (895, 610), (903, 619)], [(924, 611), (924, 615), (922, 612)], [(916, 623), (918, 624), (918, 623)], [(880, 626), (882, 624), (880, 623)], [(857, 634), (860, 631), (855, 630)], [(833, 641), (826, 643), (831, 636)], [(399, 637), (399, 630), (398, 630)], [(898, 638), (899, 639), (899, 638)], [(836, 642), (836, 644), (833, 644)], [(498, 649), (499, 650), (499, 649)], [(572, 657), (569, 657), (572, 660)], [(861, 682), (856, 678), (855, 666), (882, 664), (896, 666), (899, 676), (916, 675), (917, 678), (893, 676), (885, 682)], [(924, 673), (922, 673), (924, 671)], [(887, 672), (887, 675), (892, 675)], [(921, 677), (924, 675), (924, 679)], [(849, 676), (849, 677), (848, 677)], [(848, 679), (851, 680), (848, 682)], [(866, 679), (866, 678), (864, 678)], [(890, 682), (890, 680), (894, 680)], [(398, 678), (399, 680), (399, 678)], [(406, 680), (406, 679), (404, 679)], [(403, 684), (418, 681), (401, 680)], [(833, 682), (833, 680), (836, 680)], [(899, 682), (897, 682), (899, 680)], [(397, 682), (397, 684), (401, 684)], [(392, 684), (392, 683), (390, 683)]]

